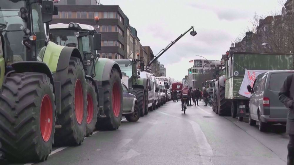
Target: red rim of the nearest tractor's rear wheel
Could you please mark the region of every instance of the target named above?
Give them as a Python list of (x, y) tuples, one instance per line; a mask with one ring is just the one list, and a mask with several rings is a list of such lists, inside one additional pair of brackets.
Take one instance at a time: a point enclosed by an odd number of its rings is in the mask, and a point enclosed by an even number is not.
[(76, 80), (75, 85), (75, 113), (76, 113), (76, 121), (78, 124), (82, 124), (83, 121), (83, 111), (84, 111), (84, 101), (83, 101), (83, 88), (80, 79)]

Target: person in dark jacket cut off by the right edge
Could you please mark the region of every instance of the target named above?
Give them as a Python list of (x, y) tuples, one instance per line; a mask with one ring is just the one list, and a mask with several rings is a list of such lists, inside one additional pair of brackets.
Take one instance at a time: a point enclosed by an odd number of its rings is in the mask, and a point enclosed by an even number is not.
[(289, 134), (287, 165), (294, 165), (294, 76), (287, 76), (279, 92), (279, 100), (289, 109), (286, 132)]

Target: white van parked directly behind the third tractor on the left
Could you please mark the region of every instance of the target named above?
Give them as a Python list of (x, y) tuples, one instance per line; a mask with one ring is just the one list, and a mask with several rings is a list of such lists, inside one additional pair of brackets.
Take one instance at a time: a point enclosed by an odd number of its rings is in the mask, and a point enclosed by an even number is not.
[[(141, 71), (140, 77), (147, 79), (148, 110), (153, 111), (154, 85), (153, 85), (151, 74), (149, 72), (146, 72), (146, 71)], [(154, 105), (154, 108), (155, 108), (155, 105)]]

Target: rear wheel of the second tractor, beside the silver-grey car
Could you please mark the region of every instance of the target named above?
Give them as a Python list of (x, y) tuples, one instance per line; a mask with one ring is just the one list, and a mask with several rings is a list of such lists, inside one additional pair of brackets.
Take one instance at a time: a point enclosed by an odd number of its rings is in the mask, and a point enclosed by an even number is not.
[(106, 118), (97, 118), (99, 130), (116, 130), (121, 124), (123, 115), (123, 89), (117, 69), (113, 68), (109, 81), (103, 81), (103, 110)]

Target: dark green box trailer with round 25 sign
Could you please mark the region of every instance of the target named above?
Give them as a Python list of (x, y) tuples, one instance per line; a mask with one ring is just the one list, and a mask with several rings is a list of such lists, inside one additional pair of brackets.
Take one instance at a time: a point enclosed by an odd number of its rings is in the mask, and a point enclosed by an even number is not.
[(226, 59), (225, 99), (231, 103), (231, 116), (233, 118), (238, 116), (239, 120), (243, 120), (243, 117), (249, 112), (249, 98), (239, 94), (245, 69), (293, 70), (293, 54), (236, 52), (228, 56)]

